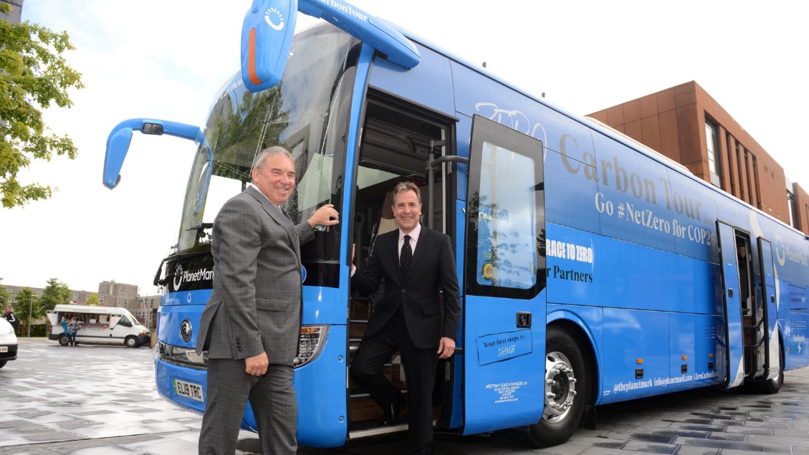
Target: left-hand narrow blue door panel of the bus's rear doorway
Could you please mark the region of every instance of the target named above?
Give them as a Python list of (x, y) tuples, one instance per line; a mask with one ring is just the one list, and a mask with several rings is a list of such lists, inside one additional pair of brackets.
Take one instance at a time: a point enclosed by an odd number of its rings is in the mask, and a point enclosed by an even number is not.
[(736, 259), (736, 236), (732, 226), (716, 222), (719, 237), (719, 260), (722, 264), (722, 291), (725, 310), (724, 358), (717, 359), (717, 372), (731, 389), (744, 380), (744, 342), (742, 308), (739, 300), (739, 263)]

